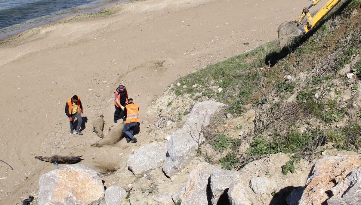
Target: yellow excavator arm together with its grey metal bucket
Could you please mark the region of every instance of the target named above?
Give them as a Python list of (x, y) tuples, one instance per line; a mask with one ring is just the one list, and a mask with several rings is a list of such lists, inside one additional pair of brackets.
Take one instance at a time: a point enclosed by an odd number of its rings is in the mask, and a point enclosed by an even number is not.
[[(279, 25), (278, 27), (278, 42), (279, 46), (282, 49), (287, 42), (298, 35), (305, 35), (309, 30), (311, 30), (327, 13), (330, 12), (334, 6), (339, 3), (341, 0), (329, 0), (322, 8), (312, 17), (309, 9), (312, 6), (315, 6), (321, 0), (313, 0), (312, 4), (308, 7), (303, 8), (301, 14), (296, 21), (286, 21)], [(307, 17), (305, 25), (302, 25), (303, 19)]]

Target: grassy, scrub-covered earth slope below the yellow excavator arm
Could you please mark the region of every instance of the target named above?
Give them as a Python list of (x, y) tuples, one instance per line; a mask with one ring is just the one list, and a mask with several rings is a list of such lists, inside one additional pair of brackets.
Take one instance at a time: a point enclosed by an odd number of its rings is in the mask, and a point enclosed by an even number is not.
[[(230, 130), (219, 133), (213, 129), (205, 135), (216, 151), (226, 153), (219, 159), (223, 169), (239, 170), (279, 152), (312, 160), (319, 154), (318, 147), (327, 143), (360, 152), (361, 109), (349, 109), (357, 98), (350, 91), (358, 95), (360, 89), (357, 79), (345, 79), (338, 73), (351, 63), (361, 79), (361, 59), (357, 58), (361, 55), (361, 20), (350, 15), (360, 5), (361, 0), (348, 1), (340, 6), (343, 10), (327, 14), (282, 51), (277, 42), (269, 42), (177, 80), (181, 86), (172, 90), (179, 97), (186, 93), (194, 100), (206, 96), (229, 105), (227, 112), (234, 116), (242, 117), (249, 105), (255, 110), (253, 132), (243, 139), (230, 137)], [(295, 80), (285, 80), (287, 75)], [(235, 126), (232, 131), (240, 129)], [(244, 139), (249, 148), (241, 153)], [(283, 174), (293, 173), (298, 160), (287, 162)]]

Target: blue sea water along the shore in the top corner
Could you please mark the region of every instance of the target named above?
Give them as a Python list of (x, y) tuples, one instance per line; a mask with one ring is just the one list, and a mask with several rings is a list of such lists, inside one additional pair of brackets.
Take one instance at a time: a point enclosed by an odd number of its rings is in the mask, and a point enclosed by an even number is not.
[(0, 0), (0, 40), (61, 18), (129, 0)]

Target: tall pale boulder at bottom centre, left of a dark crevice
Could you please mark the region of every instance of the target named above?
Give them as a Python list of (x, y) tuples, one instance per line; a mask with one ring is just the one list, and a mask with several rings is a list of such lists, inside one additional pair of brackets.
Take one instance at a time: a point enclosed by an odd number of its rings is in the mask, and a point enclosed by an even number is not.
[[(219, 170), (207, 162), (200, 162), (189, 174), (182, 205), (208, 205), (211, 198), (210, 174)], [(207, 190), (208, 189), (208, 190)]]

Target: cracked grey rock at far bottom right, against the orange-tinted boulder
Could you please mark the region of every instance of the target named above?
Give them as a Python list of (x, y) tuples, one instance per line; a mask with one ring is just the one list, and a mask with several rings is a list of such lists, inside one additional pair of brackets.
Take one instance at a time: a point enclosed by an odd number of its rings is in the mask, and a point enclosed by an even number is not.
[(349, 176), (331, 188), (333, 196), (328, 205), (361, 204), (361, 168), (352, 171)]

